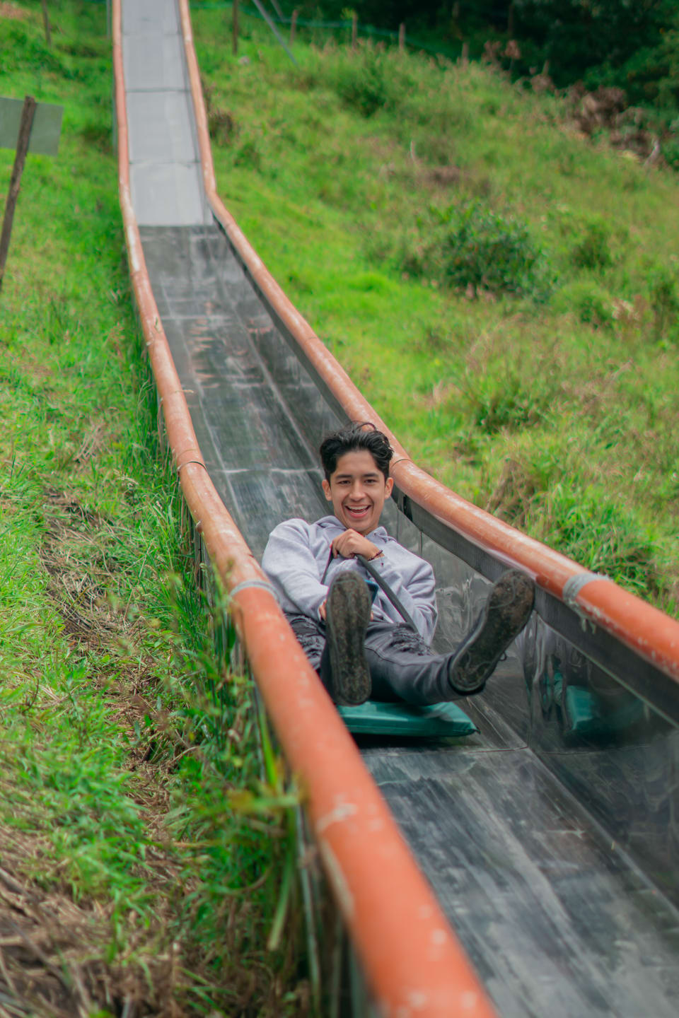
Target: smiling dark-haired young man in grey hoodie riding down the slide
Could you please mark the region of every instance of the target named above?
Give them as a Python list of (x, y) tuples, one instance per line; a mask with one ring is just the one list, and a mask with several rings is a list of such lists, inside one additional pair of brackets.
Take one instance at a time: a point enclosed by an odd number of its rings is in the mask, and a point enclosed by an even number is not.
[[(372, 695), (425, 704), (480, 692), (528, 620), (532, 581), (516, 570), (505, 573), (460, 646), (434, 654), (434, 571), (380, 525), (394, 486), (387, 437), (373, 425), (352, 423), (329, 435), (320, 452), (333, 515), (280, 523), (262, 565), (333, 699), (360, 703)], [(357, 556), (378, 570), (412, 628)]]

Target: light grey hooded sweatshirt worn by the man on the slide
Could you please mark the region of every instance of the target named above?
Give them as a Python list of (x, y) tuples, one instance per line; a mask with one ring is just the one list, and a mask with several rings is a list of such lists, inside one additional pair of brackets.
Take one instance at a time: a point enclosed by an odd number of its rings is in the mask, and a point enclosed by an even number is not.
[[(271, 531), (262, 568), (288, 615), (307, 615), (318, 621), (319, 608), (328, 597), (330, 583), (344, 570), (354, 570), (364, 579), (371, 578), (356, 559), (338, 556), (331, 560), (322, 582), (330, 546), (345, 529), (336, 516), (324, 516), (316, 523), (288, 519)], [(419, 634), (431, 643), (437, 620), (434, 570), (429, 562), (391, 538), (384, 526), (378, 526), (367, 536), (383, 553), (374, 565), (410, 613)], [(381, 588), (373, 605), (373, 617), (378, 621), (403, 623)]]

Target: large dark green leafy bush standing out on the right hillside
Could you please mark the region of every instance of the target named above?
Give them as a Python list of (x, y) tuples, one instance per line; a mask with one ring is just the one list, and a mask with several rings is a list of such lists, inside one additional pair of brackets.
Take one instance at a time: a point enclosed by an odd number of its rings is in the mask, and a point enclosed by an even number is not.
[(482, 201), (432, 209), (428, 239), (417, 237), (401, 253), (401, 268), (462, 290), (530, 295), (545, 300), (554, 278), (527, 227)]

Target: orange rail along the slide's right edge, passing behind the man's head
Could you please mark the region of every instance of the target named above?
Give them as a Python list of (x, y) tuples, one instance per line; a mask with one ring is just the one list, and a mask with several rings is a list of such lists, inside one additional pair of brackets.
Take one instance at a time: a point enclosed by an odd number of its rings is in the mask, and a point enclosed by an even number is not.
[(583, 616), (616, 636), (644, 660), (679, 682), (679, 623), (610, 579), (587, 579), (587, 570), (532, 538), (455, 495), (412, 462), (398, 439), (381, 420), (346, 372), (324, 346), (308, 323), (273, 279), (217, 193), (208, 121), (193, 48), (188, 0), (179, 0), (184, 49), (197, 125), (203, 180), (212, 210), (276, 315), (294, 337), (350, 419), (373, 420), (390, 438), (396, 452), (392, 475), (400, 490), (448, 523), (478, 548), (527, 572), (545, 590), (564, 601), (564, 587), (574, 577), (587, 580), (570, 601)]

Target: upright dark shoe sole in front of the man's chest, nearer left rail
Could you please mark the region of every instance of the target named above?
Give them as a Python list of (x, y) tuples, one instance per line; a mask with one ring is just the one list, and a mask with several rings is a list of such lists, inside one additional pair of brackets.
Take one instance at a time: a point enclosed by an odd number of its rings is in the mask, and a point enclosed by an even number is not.
[(332, 695), (336, 703), (355, 706), (371, 695), (364, 640), (371, 597), (356, 573), (340, 573), (328, 597), (326, 622)]

